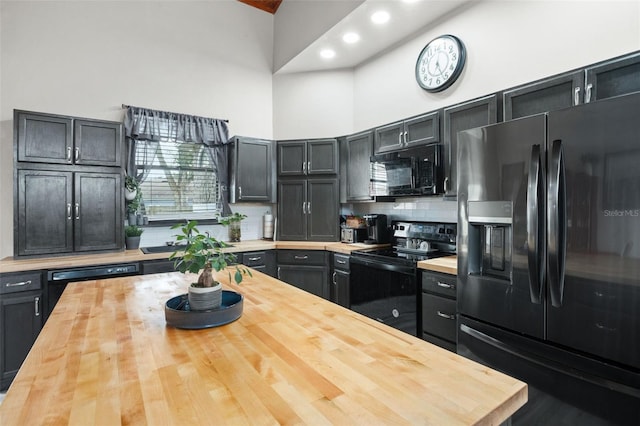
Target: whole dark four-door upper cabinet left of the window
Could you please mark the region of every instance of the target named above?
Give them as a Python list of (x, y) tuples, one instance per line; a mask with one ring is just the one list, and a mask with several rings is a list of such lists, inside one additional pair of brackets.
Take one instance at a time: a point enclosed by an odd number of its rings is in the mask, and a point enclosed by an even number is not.
[(14, 110), (14, 256), (123, 249), (122, 124)]

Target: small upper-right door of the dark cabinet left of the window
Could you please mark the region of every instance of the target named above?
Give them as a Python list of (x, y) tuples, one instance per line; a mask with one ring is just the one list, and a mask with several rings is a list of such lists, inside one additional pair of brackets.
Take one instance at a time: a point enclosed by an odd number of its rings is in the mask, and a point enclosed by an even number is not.
[(122, 165), (122, 124), (76, 119), (73, 127), (73, 157), (76, 164)]

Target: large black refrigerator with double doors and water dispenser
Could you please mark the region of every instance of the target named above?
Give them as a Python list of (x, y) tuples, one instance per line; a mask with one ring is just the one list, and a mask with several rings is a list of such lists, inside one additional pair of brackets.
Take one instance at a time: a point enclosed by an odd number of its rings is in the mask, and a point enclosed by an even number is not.
[(458, 141), (458, 353), (514, 424), (640, 424), (640, 93)]

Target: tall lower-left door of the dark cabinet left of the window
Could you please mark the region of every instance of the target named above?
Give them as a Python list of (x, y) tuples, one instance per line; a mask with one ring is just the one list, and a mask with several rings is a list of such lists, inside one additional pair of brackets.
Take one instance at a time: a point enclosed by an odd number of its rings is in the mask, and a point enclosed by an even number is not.
[(18, 169), (14, 249), (18, 256), (73, 251), (73, 174)]

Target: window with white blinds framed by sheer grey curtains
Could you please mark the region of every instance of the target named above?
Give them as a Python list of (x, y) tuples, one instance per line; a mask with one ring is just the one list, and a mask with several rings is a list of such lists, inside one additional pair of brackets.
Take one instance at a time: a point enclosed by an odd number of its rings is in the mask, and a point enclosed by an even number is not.
[(137, 141), (136, 175), (143, 175), (141, 209), (149, 220), (213, 219), (219, 185), (202, 144), (163, 138)]

